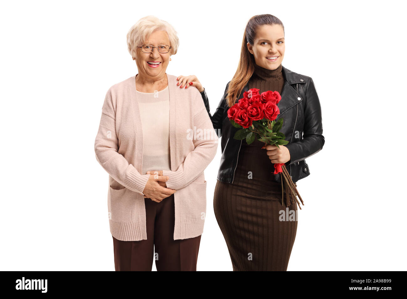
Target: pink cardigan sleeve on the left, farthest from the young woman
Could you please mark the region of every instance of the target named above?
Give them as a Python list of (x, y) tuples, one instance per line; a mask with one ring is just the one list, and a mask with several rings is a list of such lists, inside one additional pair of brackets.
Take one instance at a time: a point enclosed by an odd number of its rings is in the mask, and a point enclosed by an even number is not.
[(121, 185), (131, 191), (143, 194), (150, 175), (140, 175), (125, 157), (118, 153), (116, 135), (116, 101), (113, 101), (111, 89), (106, 93), (102, 107), (102, 116), (95, 139), (96, 160)]

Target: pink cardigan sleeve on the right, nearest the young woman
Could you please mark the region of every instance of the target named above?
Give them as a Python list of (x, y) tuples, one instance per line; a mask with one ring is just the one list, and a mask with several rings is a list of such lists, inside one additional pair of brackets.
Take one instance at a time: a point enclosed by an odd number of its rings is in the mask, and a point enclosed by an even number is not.
[(206, 138), (193, 139), (195, 149), (186, 155), (184, 162), (179, 165), (176, 171), (164, 170), (162, 172), (164, 176), (169, 177), (166, 181), (167, 188), (174, 190), (182, 189), (194, 181), (215, 157), (218, 148), (218, 136), (214, 132), (212, 122), (198, 91), (193, 102), (195, 103), (193, 111), (199, 111), (193, 116), (193, 125), (197, 130), (204, 131), (206, 129), (207, 134)]

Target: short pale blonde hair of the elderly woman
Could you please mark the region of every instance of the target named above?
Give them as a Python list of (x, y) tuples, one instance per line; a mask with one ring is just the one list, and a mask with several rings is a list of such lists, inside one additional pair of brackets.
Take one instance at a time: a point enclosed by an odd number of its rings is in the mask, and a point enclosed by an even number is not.
[(174, 27), (168, 22), (160, 20), (158, 17), (148, 15), (138, 20), (136, 24), (131, 26), (127, 33), (127, 50), (129, 50), (131, 57), (136, 57), (137, 46), (141, 46), (154, 31), (166, 31), (170, 39), (170, 55), (177, 53), (179, 39)]

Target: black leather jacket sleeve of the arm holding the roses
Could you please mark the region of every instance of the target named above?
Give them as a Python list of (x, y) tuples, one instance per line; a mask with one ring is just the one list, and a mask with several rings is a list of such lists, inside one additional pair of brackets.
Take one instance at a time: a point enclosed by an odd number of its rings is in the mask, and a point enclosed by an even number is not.
[(304, 138), (298, 142), (289, 143), (286, 147), (290, 151), (291, 159), (286, 165), (302, 161), (322, 150), (325, 138), (322, 135), (321, 105), (315, 89), (314, 81), (310, 77), (305, 92), (304, 105)]

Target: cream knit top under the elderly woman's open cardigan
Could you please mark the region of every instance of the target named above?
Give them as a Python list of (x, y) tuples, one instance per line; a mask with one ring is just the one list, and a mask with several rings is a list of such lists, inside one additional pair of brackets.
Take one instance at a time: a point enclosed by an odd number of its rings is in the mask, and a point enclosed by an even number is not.
[(143, 127), (142, 175), (149, 170), (171, 170), (168, 85), (159, 92), (136, 93)]

